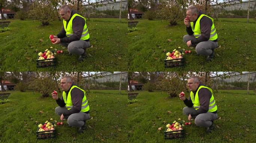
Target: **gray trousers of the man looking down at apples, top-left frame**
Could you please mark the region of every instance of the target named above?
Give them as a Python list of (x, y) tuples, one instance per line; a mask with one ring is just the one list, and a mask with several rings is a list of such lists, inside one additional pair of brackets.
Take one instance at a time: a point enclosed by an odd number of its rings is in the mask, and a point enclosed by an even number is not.
[(68, 48), (68, 52), (71, 54), (82, 55), (86, 48), (90, 46), (90, 42), (84, 40), (77, 40), (70, 43), (60, 43), (64, 47)]

